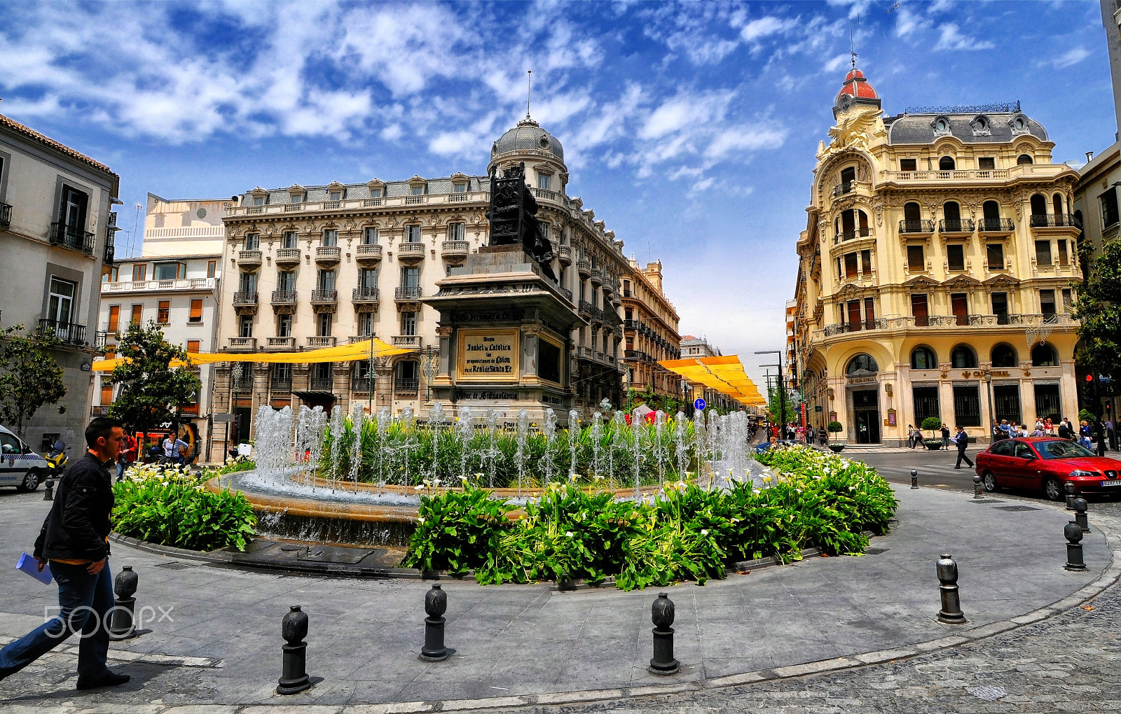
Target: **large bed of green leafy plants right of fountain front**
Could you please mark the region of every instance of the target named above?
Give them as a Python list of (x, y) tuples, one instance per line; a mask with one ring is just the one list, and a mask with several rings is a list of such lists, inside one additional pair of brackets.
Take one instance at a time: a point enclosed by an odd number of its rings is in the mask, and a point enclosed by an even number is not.
[(609, 575), (623, 590), (723, 577), (730, 562), (803, 548), (861, 554), (864, 530), (882, 533), (898, 506), (891, 487), (861, 462), (806, 447), (760, 457), (775, 482), (706, 490), (678, 481), (655, 501), (550, 483), (524, 511), (470, 481), (462, 491), (420, 499), (402, 565), (464, 573), (483, 584), (537, 580), (591, 582)]

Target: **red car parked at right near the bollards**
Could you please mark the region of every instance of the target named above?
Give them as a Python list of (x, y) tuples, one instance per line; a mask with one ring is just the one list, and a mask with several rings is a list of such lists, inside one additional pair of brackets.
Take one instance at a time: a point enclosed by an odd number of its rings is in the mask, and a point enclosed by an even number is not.
[(1121, 494), (1121, 461), (1065, 439), (1003, 439), (978, 453), (976, 472), (986, 491), (1026, 488), (1062, 500), (1071, 482), (1076, 494)]

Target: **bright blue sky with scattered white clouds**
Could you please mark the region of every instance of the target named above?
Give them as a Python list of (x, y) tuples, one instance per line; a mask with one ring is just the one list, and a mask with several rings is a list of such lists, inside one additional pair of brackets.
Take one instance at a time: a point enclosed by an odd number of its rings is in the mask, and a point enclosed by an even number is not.
[(762, 387), (772, 357), (752, 353), (785, 341), (850, 47), (886, 115), (1019, 100), (1056, 162), (1114, 141), (1085, 0), (6, 2), (0, 113), (120, 175), (121, 255), (149, 191), (484, 173), (532, 69), (568, 195), (628, 256), (663, 262), (683, 335), (741, 355)]

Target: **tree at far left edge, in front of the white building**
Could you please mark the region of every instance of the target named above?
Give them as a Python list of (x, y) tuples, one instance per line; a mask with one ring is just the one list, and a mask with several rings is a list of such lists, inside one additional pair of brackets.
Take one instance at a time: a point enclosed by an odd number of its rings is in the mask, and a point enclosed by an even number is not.
[[(0, 331), (0, 420), (16, 426), (24, 435), (24, 423), (39, 407), (55, 404), (66, 395), (63, 368), (50, 356), (61, 341), (53, 331), (20, 335), (22, 325)], [(66, 406), (58, 407), (59, 414)]]

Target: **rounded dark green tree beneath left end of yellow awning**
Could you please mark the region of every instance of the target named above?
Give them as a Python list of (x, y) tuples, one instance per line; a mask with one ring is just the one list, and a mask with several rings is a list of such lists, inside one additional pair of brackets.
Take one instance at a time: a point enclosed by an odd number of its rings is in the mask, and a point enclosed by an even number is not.
[(117, 356), (127, 358), (113, 369), (112, 382), (121, 389), (109, 415), (147, 434), (152, 428), (175, 422), (176, 410), (197, 398), (202, 383), (189, 367), (172, 367), (187, 359), (187, 350), (164, 339), (164, 330), (150, 320), (147, 327), (129, 325), (117, 345)]

